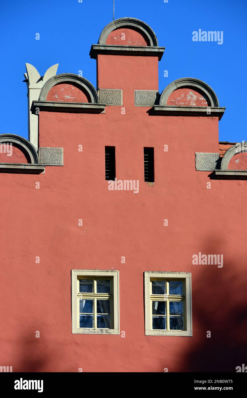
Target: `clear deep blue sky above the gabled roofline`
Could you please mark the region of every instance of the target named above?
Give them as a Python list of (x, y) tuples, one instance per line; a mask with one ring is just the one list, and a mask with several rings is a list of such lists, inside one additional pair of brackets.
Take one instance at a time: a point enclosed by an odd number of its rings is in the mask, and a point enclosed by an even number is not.
[[(28, 136), (25, 62), (41, 76), (55, 63), (59, 63), (57, 73), (82, 70), (96, 86), (96, 61), (89, 51), (112, 14), (113, 0), (1, 1), (0, 133)], [(145, 21), (159, 45), (166, 47), (159, 62), (160, 92), (178, 78), (204, 80), (216, 92), (220, 106), (226, 107), (219, 140), (247, 140), (246, 0), (115, 0), (115, 19), (121, 17)], [(192, 32), (199, 29), (223, 31), (223, 44), (193, 42)]]

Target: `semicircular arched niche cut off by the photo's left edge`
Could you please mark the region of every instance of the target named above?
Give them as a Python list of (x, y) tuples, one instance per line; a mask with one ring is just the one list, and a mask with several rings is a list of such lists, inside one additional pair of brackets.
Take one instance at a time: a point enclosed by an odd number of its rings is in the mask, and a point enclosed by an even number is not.
[[(39, 164), (38, 153), (33, 144), (19, 135), (0, 134), (0, 145), (1, 154), (6, 155), (4, 157), (0, 156), (1, 163)], [(11, 155), (7, 156), (7, 151), (10, 152), (10, 147)]]

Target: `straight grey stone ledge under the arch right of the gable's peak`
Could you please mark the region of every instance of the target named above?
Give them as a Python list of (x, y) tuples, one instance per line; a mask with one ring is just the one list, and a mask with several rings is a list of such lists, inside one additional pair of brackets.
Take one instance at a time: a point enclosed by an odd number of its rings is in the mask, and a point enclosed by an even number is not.
[[(207, 111), (210, 109), (210, 113)], [(169, 106), (169, 105), (155, 105), (150, 112), (153, 115), (163, 116), (206, 116), (218, 117), (219, 120), (224, 115), (225, 107), (204, 107), (204, 106)]]

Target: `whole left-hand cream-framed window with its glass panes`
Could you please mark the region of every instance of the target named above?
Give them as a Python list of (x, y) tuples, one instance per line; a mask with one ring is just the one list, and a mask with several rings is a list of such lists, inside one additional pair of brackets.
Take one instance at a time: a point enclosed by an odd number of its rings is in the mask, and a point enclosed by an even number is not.
[(119, 271), (73, 269), (72, 333), (120, 334)]

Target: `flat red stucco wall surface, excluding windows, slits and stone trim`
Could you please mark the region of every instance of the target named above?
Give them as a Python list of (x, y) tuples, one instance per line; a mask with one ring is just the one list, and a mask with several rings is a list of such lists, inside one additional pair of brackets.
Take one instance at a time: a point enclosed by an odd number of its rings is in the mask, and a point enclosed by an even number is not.
[[(0, 365), (234, 372), (247, 353), (247, 182), (195, 170), (195, 152), (219, 150), (218, 118), (151, 116), (135, 107), (135, 89), (158, 89), (156, 57), (100, 55), (98, 82), (123, 89), (125, 114), (121, 106), (99, 115), (42, 111), (40, 146), (63, 147), (64, 166), (0, 173)], [(138, 194), (108, 190), (106, 145), (116, 147), (117, 178), (138, 179)], [(154, 147), (152, 186), (144, 182), (144, 146)], [(192, 265), (199, 252), (223, 254), (224, 266)], [(71, 269), (120, 271), (125, 338), (71, 334)], [(145, 336), (144, 271), (192, 273), (193, 337)]]

